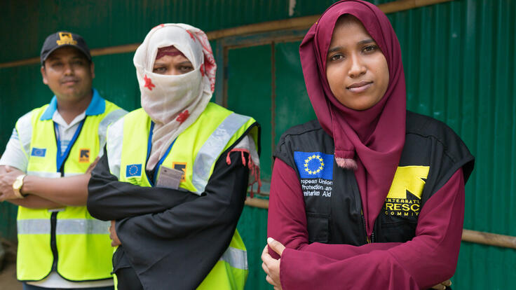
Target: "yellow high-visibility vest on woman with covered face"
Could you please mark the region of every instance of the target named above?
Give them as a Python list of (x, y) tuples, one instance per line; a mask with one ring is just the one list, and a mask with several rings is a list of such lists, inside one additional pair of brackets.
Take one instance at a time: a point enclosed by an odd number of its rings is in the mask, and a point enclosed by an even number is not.
[[(208, 153), (205, 144), (210, 144), (215, 136), (220, 137), (220, 132), (227, 132), (224, 128), (233, 120), (239, 120), (238, 128), (231, 132), (231, 136), (226, 136), (226, 144), (220, 147), (221, 150)], [(229, 149), (244, 134), (250, 134), (255, 144), (257, 144), (258, 129), (254, 124), (256, 121), (247, 116), (235, 114), (217, 104), (209, 103), (205, 111), (201, 113), (196, 122), (188, 127), (184, 132), (179, 134), (172, 150), (168, 153), (163, 165), (170, 168), (177, 168), (184, 171), (184, 177), (179, 184), (180, 188), (184, 188), (192, 193), (201, 194), (204, 191), (203, 176), (208, 181), (215, 167), (215, 161), (220, 154)], [(231, 127), (231, 125), (229, 127)], [(118, 179), (120, 181), (129, 182), (139, 186), (151, 186), (147, 174), (145, 174), (145, 166), (147, 162), (147, 147), (149, 131), (151, 127), (151, 119), (143, 109), (137, 109), (128, 113), (123, 118), (123, 145), (121, 149), (121, 164)], [(221, 130), (222, 128), (222, 130)], [(137, 136), (135, 138), (135, 136)], [(147, 138), (146, 138), (147, 137)], [(110, 143), (111, 132), (108, 132), (107, 142)], [(218, 141), (220, 139), (217, 139)], [(113, 151), (116, 151), (116, 146)], [(209, 150), (208, 150), (209, 151)], [(208, 157), (209, 154), (212, 156)], [(109, 149), (108, 149), (109, 159)], [(212, 162), (203, 163), (203, 160), (212, 160)], [(198, 164), (202, 164), (200, 168)], [(111, 165), (110, 165), (111, 167)], [(156, 168), (158, 170), (158, 168)], [(203, 173), (204, 172), (204, 173)], [(118, 172), (111, 172), (117, 175)], [(206, 174), (207, 173), (207, 174)], [(204, 175), (203, 175), (204, 174)], [(197, 181), (196, 181), (197, 180)], [(191, 194), (191, 193), (185, 193)], [(245, 254), (245, 265), (240, 263), (231, 264), (231, 251), (233, 254)], [(226, 258), (228, 257), (228, 258)], [(224, 253), (222, 258), (217, 261), (216, 265), (207, 277), (203, 280), (198, 289), (243, 289), (245, 280), (247, 279), (247, 252), (245, 244), (241, 239), (238, 231), (235, 231), (233, 238), (229, 244), (229, 249)]]

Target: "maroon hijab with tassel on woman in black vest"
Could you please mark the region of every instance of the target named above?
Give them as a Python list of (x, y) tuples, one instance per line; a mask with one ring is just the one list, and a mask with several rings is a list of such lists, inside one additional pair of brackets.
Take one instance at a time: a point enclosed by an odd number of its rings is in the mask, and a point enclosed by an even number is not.
[[(371, 108), (355, 111), (334, 97), (326, 78), (327, 51), (341, 15), (358, 18), (385, 55), (389, 85)], [(406, 92), (400, 43), (383, 12), (365, 1), (339, 1), (312, 25), (299, 48), (308, 97), (335, 144), (339, 167), (355, 170), (367, 235), (385, 202), (405, 144)]]

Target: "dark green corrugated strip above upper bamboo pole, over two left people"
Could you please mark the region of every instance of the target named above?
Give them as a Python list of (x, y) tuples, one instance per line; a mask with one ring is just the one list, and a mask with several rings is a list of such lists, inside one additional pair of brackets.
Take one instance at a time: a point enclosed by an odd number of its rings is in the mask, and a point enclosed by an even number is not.
[[(81, 34), (90, 48), (140, 43), (152, 27), (184, 22), (205, 31), (288, 17), (288, 0), (6, 1), (0, 4), (4, 46), (0, 62), (39, 55), (59, 29)], [(27, 21), (22, 21), (27, 20)]]

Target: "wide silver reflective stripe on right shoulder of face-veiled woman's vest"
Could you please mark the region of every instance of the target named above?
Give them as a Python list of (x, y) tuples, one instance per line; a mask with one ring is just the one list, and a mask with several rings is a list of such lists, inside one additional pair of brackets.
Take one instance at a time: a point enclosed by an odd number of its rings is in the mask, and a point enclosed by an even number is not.
[(239, 115), (238, 113), (231, 113), (222, 123), (215, 129), (215, 131), (208, 137), (208, 140), (203, 144), (201, 150), (197, 153), (194, 161), (194, 168), (192, 172), (192, 184), (196, 188), (196, 193), (201, 194), (208, 184), (210, 178), (210, 169), (219, 158), (222, 150), (226, 147), (229, 139), (233, 134), (240, 129), (250, 117)]

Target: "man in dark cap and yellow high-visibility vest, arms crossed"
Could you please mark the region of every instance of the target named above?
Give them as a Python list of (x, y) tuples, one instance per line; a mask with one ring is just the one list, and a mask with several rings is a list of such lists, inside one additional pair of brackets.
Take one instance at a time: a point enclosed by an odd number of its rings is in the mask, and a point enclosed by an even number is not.
[(85, 205), (107, 126), (126, 112), (92, 88), (95, 67), (77, 34), (47, 37), (41, 76), (55, 96), (18, 119), (0, 158), (0, 201), (20, 206), (18, 279), (24, 290), (113, 289), (109, 222)]

